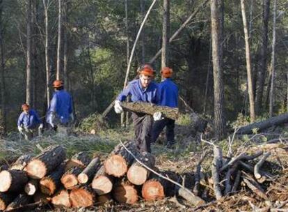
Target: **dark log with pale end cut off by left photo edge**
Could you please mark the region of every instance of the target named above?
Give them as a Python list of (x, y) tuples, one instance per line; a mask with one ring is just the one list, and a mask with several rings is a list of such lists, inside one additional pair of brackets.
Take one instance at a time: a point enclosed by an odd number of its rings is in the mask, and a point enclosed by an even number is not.
[(28, 177), (22, 170), (5, 170), (0, 172), (0, 192), (18, 192), (27, 183)]

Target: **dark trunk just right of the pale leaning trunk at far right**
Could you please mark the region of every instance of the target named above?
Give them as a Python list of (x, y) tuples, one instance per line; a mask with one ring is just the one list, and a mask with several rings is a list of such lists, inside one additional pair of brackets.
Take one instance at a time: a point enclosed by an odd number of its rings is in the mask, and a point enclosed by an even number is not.
[(270, 0), (263, 0), (263, 25), (262, 25), (262, 49), (261, 49), (261, 63), (258, 76), (259, 87), (256, 95), (256, 109), (257, 113), (262, 108), (262, 98), (264, 91), (264, 82), (267, 66), (267, 46), (268, 46), (268, 29), (269, 29), (269, 12)]

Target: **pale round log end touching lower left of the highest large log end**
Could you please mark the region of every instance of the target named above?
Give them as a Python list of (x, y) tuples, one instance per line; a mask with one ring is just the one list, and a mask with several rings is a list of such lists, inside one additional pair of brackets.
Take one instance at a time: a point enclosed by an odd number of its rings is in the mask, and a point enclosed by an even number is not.
[(99, 176), (93, 179), (92, 188), (95, 190), (97, 195), (105, 195), (111, 192), (113, 183), (106, 176)]

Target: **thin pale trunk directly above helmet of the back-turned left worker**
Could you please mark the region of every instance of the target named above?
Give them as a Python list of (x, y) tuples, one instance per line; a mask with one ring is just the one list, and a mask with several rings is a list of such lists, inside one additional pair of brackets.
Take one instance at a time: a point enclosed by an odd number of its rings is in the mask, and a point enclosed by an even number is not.
[(58, 43), (57, 43), (57, 69), (56, 79), (61, 79), (61, 59), (62, 59), (62, 0), (58, 0)]

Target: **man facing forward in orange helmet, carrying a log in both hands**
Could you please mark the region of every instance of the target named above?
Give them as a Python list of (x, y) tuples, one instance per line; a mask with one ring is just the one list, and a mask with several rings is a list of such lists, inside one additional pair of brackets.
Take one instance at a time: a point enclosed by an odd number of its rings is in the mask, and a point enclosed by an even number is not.
[[(139, 79), (129, 82), (128, 86), (115, 100), (114, 109), (117, 114), (123, 112), (121, 102), (130, 96), (131, 102), (156, 103), (157, 84), (152, 81), (154, 70), (151, 66), (143, 66), (140, 70)], [(136, 145), (141, 151), (151, 152), (150, 140), (153, 118), (149, 114), (132, 112)]]

